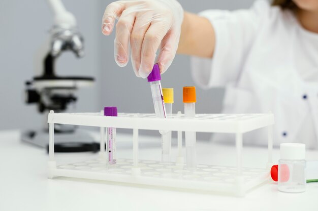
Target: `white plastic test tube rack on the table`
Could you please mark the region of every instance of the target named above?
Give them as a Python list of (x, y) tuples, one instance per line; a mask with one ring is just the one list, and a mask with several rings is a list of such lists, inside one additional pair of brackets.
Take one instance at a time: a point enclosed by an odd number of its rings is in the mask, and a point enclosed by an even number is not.
[[(104, 180), (128, 184), (163, 186), (175, 189), (226, 193), (244, 196), (247, 191), (269, 181), (272, 166), (274, 124), (273, 114), (196, 114), (185, 118), (180, 112), (169, 118), (156, 118), (155, 114), (119, 113), (104, 116), (102, 113), (54, 113), (48, 114), (49, 161), (48, 177), (71, 177)], [(57, 164), (54, 158), (54, 124), (72, 124), (100, 127), (100, 156), (85, 162)], [(105, 129), (133, 130), (132, 159), (117, 159), (107, 163)], [(242, 136), (246, 132), (268, 128), (268, 163), (264, 168), (242, 167)], [(198, 164), (196, 170), (188, 170), (183, 160), (160, 162), (138, 159), (139, 130), (165, 130), (178, 132), (178, 148), (182, 147), (182, 131), (236, 134), (236, 166)]]

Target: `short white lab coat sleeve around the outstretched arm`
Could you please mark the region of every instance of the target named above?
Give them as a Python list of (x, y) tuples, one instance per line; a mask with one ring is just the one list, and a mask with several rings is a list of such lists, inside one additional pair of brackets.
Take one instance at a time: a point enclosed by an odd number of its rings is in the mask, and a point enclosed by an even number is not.
[(250, 9), (237, 11), (207, 10), (206, 17), (215, 31), (212, 59), (192, 57), (192, 75), (202, 88), (235, 84), (253, 40), (270, 15), (267, 1), (256, 1)]

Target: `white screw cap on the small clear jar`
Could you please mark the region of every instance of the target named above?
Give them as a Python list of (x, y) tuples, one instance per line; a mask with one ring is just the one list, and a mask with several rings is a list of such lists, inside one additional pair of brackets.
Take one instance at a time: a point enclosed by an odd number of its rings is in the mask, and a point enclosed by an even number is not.
[(280, 144), (280, 159), (302, 160), (305, 159), (305, 152), (305, 144)]

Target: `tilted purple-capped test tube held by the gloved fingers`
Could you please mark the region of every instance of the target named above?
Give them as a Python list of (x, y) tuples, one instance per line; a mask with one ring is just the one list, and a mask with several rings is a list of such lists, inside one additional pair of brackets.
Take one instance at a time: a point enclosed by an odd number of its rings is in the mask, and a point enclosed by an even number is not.
[[(151, 73), (148, 76), (150, 82), (151, 94), (154, 106), (154, 112), (157, 118), (167, 118), (166, 107), (161, 87), (161, 75), (158, 64), (155, 64)], [(166, 134), (168, 131), (159, 131), (161, 134)]]

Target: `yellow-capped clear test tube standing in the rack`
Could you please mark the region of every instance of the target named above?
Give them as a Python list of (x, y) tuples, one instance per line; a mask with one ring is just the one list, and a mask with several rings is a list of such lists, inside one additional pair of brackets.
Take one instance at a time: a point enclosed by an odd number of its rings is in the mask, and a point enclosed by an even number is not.
[[(164, 101), (166, 105), (167, 117), (172, 115), (173, 104), (173, 89), (163, 88)], [(171, 153), (171, 131), (161, 136), (162, 137), (162, 161), (170, 162)]]

